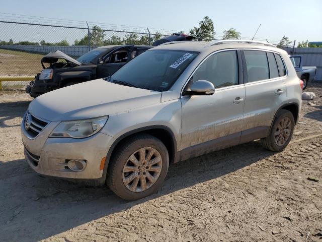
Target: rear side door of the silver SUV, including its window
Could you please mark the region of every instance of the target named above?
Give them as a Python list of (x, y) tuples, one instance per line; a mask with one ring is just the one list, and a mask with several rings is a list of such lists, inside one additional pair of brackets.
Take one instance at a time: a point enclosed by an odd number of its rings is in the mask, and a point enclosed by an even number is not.
[(267, 136), (276, 111), (287, 101), (286, 69), (279, 54), (253, 49), (241, 52), (246, 91), (241, 142), (248, 142)]

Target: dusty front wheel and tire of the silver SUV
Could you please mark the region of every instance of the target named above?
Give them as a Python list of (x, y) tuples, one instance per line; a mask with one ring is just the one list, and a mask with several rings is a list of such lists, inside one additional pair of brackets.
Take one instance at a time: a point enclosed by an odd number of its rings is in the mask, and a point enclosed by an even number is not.
[[(139, 151), (142, 151), (142, 156), (145, 157), (143, 163)], [(153, 155), (148, 161), (145, 161), (148, 159), (150, 151)], [(132, 161), (139, 162), (139, 165), (135, 165)], [(152, 161), (158, 162), (151, 165)], [(128, 167), (135, 167), (135, 170), (127, 172)], [(157, 169), (158, 172), (145, 169), (147, 167)], [(167, 175), (168, 167), (169, 153), (166, 146), (154, 136), (137, 135), (126, 140), (112, 156), (107, 173), (107, 185), (118, 197), (124, 200), (132, 201), (144, 198), (161, 187)], [(126, 185), (129, 180), (131, 181)], [(150, 180), (153, 180), (153, 183)]]

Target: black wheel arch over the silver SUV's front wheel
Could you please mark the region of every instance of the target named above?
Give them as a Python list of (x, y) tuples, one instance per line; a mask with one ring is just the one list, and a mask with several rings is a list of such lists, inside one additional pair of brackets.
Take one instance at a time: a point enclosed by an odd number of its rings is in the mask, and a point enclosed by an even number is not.
[(159, 139), (160, 141), (162, 141), (168, 149), (170, 163), (175, 163), (180, 160), (180, 152), (178, 152), (176, 138), (174, 133), (169, 127), (163, 126), (163, 125), (153, 125), (153, 126), (138, 128), (121, 135), (111, 145), (106, 155), (106, 161), (104, 164), (103, 177), (102, 177), (104, 178), (104, 180), (106, 180), (107, 171), (110, 166), (110, 160), (113, 158), (113, 155), (115, 154), (115, 151), (117, 150), (117, 148), (120, 147), (126, 139), (139, 134), (150, 134), (155, 138)]

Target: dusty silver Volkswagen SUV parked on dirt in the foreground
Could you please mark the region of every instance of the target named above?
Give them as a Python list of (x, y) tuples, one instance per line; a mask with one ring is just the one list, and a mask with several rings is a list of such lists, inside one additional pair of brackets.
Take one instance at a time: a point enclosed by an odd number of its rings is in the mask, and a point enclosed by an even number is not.
[(256, 139), (283, 150), (302, 85), (288, 54), (269, 43), (170, 42), (111, 77), (33, 100), (21, 124), (25, 156), (38, 173), (106, 182), (139, 199), (171, 163)]

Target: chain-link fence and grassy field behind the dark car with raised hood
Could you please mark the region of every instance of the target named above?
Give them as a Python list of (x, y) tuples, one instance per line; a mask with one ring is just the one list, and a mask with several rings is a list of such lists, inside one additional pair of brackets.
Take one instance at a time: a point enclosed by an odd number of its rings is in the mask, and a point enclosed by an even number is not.
[[(9, 20), (0, 18), (0, 90), (25, 89), (28, 82), (43, 69), (40, 59), (55, 50), (77, 58), (99, 46), (151, 45), (155, 40), (178, 32), (129, 26), (124, 29), (121, 25), (81, 21), (66, 26), (62, 24), (66, 20), (45, 18), (40, 23)], [(221, 39), (220, 36), (204, 40), (218, 39)]]

